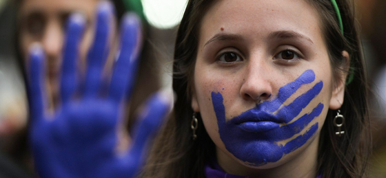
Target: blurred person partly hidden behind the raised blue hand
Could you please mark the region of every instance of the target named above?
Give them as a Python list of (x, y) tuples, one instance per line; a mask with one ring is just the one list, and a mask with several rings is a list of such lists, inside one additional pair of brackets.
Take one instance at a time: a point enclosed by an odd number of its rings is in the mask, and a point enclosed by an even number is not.
[[(28, 47), (33, 43), (40, 43), (45, 52), (47, 73), (45, 74), (45, 86), (48, 93), (48, 105), (53, 110), (58, 107), (58, 95), (59, 88), (57, 86), (59, 82), (59, 71), (62, 64), (62, 49), (65, 41), (65, 25), (68, 20), (68, 16), (74, 12), (80, 12), (85, 16), (85, 31), (83, 38), (81, 39), (81, 47), (79, 51), (79, 74), (83, 75), (85, 72), (88, 49), (94, 35), (95, 25), (95, 11), (96, 4), (99, 0), (16, 0), (12, 5), (16, 7), (16, 56), (19, 66), (23, 72), (23, 78), (26, 79), (26, 65), (29, 63), (27, 59)], [(115, 43), (118, 38), (118, 30), (116, 26), (119, 25), (123, 14), (128, 11), (134, 11), (143, 19), (143, 12), (141, 7), (141, 1), (139, 0), (112, 0), (116, 11), (116, 20), (112, 21), (112, 30), (110, 33), (110, 43), (112, 48), (110, 49), (112, 55), (109, 55), (108, 65), (105, 67), (105, 71), (110, 71), (114, 62), (114, 54), (118, 45)], [(143, 30), (146, 31), (147, 24), (143, 23)], [(144, 32), (146, 36), (146, 32)], [(146, 39), (146, 37), (145, 37)], [(139, 102), (142, 102), (147, 98), (150, 93), (153, 93), (159, 89), (159, 81), (156, 78), (158, 75), (158, 68), (156, 63), (150, 62), (152, 60), (152, 48), (148, 45), (147, 41), (143, 42), (143, 51), (141, 52), (141, 60), (139, 62), (139, 71), (136, 78), (136, 83), (132, 98), (130, 98), (130, 104), (126, 112), (125, 118), (134, 118), (136, 108), (139, 107)], [(106, 72), (108, 74), (109, 72)], [(105, 78), (110, 76), (105, 75)], [(146, 82), (144, 82), (146, 80)], [(129, 99), (129, 98), (128, 98)], [(26, 99), (23, 99), (26, 100)], [(28, 109), (25, 109), (25, 113), (28, 113)], [(18, 112), (23, 113), (23, 109), (19, 109)], [(26, 114), (27, 115), (27, 114)], [(24, 164), (29, 169), (32, 168), (30, 162), (30, 153), (28, 151), (26, 124), (28, 117), (24, 115), (21, 117), (23, 122), (20, 122), (18, 126), (14, 126), (14, 131), (11, 133), (17, 135), (12, 137), (12, 142), (3, 143), (3, 151), (8, 153), (16, 162)], [(122, 125), (122, 131), (125, 133), (126, 129), (130, 130), (133, 120), (125, 120)], [(126, 134), (121, 134), (126, 135)], [(127, 146), (130, 142), (129, 137), (122, 139), (121, 145)]]

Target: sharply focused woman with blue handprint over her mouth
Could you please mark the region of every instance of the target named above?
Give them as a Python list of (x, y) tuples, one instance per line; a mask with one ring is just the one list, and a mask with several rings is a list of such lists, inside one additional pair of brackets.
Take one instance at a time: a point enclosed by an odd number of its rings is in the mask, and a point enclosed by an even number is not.
[(143, 177), (363, 177), (367, 88), (353, 1), (187, 4), (174, 117)]

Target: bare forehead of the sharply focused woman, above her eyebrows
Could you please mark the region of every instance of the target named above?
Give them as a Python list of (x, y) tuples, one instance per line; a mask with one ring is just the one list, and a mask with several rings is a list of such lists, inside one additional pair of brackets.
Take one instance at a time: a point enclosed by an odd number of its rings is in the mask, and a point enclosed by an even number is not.
[[(303, 0), (221, 0), (212, 4), (201, 23), (203, 45), (216, 34), (227, 32), (257, 38), (273, 32), (296, 32), (312, 41), (320, 41), (318, 13)], [(264, 39), (261, 39), (264, 40)]]

